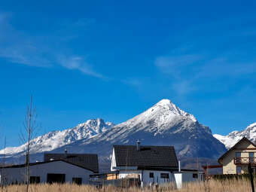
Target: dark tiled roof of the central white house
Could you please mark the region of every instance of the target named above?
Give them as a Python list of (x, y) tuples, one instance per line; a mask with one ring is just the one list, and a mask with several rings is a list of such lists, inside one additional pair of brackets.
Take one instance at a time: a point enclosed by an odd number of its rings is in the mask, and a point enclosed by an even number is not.
[(139, 168), (178, 168), (175, 149), (172, 146), (114, 145), (116, 166)]

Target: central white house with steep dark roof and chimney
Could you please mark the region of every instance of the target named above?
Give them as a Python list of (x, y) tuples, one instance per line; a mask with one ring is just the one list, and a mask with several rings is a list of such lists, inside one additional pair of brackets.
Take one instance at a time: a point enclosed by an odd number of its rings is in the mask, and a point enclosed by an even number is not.
[(142, 187), (203, 180), (203, 172), (181, 171), (173, 146), (141, 146), (139, 141), (113, 146), (111, 171), (118, 171), (118, 178), (138, 178)]

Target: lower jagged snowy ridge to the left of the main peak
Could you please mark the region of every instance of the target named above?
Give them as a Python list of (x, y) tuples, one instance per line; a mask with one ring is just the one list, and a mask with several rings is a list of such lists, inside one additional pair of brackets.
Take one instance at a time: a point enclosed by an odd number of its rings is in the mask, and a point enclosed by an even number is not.
[[(89, 139), (108, 130), (111, 126), (114, 126), (114, 123), (105, 123), (104, 120), (98, 118), (87, 120), (85, 123), (78, 124), (69, 130), (51, 131), (31, 141), (31, 152), (34, 154), (52, 151), (79, 139)], [(5, 148), (5, 150), (0, 151), (0, 154), (5, 153), (8, 156), (9, 154), (22, 154), (24, 151), (26, 151), (26, 144), (20, 147)]]

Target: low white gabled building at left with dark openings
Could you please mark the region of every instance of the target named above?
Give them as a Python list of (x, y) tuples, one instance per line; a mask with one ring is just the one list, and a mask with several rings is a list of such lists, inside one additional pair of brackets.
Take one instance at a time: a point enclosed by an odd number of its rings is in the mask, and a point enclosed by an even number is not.
[[(91, 170), (66, 162), (51, 160), (29, 163), (30, 183), (76, 183), (88, 184)], [(0, 169), (0, 180), (3, 184), (18, 184), (26, 182), (26, 164), (5, 166)]]

